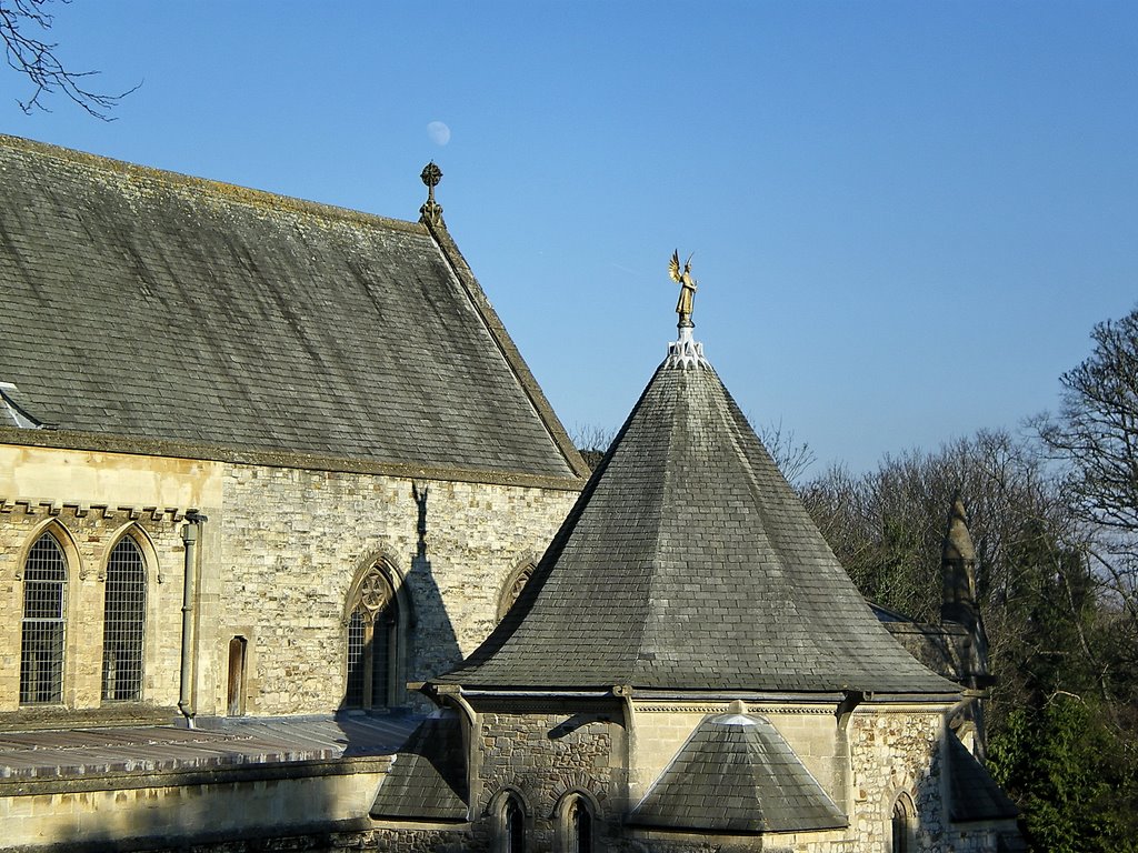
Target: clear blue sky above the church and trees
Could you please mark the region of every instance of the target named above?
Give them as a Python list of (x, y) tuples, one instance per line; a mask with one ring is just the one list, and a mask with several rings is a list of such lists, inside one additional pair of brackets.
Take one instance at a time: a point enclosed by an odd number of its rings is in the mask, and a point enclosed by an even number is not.
[[(0, 130), (452, 234), (566, 425), (675, 334), (744, 412), (873, 467), (1054, 408), (1138, 303), (1138, 3), (75, 0), (106, 91)], [(432, 122), (450, 139), (429, 131)]]

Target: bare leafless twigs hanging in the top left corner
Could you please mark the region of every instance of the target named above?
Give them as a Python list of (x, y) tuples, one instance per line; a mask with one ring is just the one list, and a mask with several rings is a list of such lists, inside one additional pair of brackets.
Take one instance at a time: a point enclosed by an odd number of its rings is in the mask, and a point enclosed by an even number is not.
[[(114, 121), (108, 113), (118, 101), (138, 89), (122, 94), (106, 94), (88, 88), (88, 80), (99, 72), (69, 71), (56, 53), (58, 44), (43, 40), (55, 16), (48, 10), (52, 0), (0, 0), (0, 39), (3, 39), (8, 65), (32, 82), (32, 96), (16, 99), (25, 113), (47, 110), (43, 100), (63, 92), (96, 118)], [(71, 0), (59, 0), (69, 3)], [(141, 83), (139, 83), (141, 85)]]

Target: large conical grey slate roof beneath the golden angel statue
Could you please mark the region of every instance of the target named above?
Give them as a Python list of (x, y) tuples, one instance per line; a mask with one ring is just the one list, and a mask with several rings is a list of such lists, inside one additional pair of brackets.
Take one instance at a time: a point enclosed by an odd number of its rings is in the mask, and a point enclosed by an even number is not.
[(702, 357), (660, 366), (518, 603), (437, 682), (959, 691), (879, 623)]

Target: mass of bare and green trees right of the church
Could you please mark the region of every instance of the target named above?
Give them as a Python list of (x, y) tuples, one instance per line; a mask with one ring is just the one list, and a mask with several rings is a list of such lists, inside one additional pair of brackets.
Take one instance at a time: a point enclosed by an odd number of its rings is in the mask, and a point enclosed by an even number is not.
[(1138, 837), (1138, 309), (1095, 326), (1062, 407), (1022, 436), (981, 431), (800, 491), (872, 601), (940, 606), (940, 545), (968, 505), (997, 678), (992, 771), (1037, 851), (1127, 851)]

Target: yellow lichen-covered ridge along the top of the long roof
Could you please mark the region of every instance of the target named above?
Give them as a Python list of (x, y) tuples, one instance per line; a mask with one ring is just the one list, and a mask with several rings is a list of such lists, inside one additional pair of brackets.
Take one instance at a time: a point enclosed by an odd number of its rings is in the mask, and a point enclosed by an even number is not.
[(156, 168), (154, 166), (143, 166), (137, 163), (131, 163), (130, 160), (91, 154), (90, 151), (80, 151), (77, 149), (65, 148), (63, 146), (53, 146), (49, 142), (40, 142), (25, 136), (14, 136), (0, 133), (0, 147), (9, 150), (27, 151), (41, 157), (51, 157), (52, 159), (60, 160), (63, 163), (96, 168), (101, 172), (118, 174), (125, 177), (150, 181), (155, 184), (164, 185), (175, 191), (196, 189), (208, 192), (217, 198), (225, 199), (226, 201), (245, 205), (247, 207), (267, 207), (277, 210), (284, 209), (294, 213), (308, 214), (311, 216), (320, 216), (328, 220), (351, 222), (361, 225), (379, 225), (397, 229), (399, 231), (426, 233), (426, 227), (421, 223), (412, 222), (410, 220), (395, 220), (389, 216), (380, 216), (379, 214), (354, 210), (349, 207), (343, 207), (340, 205), (312, 201), (297, 196), (286, 196), (270, 190), (259, 190), (253, 187), (242, 187), (241, 184), (229, 183), (226, 181), (199, 177), (184, 172), (174, 172), (172, 169)]

